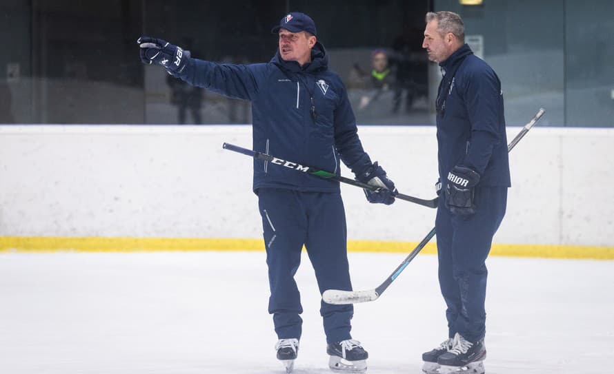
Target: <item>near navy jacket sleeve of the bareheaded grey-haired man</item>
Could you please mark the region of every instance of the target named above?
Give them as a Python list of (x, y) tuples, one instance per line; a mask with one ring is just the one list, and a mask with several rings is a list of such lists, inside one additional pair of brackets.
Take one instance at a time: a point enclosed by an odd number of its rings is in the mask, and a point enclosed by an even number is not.
[(480, 67), (468, 72), (465, 103), (471, 138), (463, 164), (479, 175), (484, 174), (495, 145), (502, 140), (501, 95), (501, 84), (493, 70)]

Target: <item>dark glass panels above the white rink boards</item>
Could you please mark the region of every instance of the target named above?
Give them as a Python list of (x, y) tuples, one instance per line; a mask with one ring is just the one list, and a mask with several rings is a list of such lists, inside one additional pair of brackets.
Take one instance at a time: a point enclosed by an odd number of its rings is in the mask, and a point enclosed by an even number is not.
[[(361, 124), (433, 124), (437, 66), (422, 52), (424, 14), (459, 12), (466, 34), (483, 40), (483, 58), (499, 74), (508, 124), (522, 125), (540, 106), (545, 125), (614, 126), (614, 2), (611, 0), (5, 0), (0, 3), (0, 123), (177, 123), (176, 94), (159, 67), (139, 61), (141, 34), (230, 63), (269, 61), (277, 39), (270, 28), (290, 10), (315, 19), (330, 67), (348, 85)], [(405, 38), (413, 104), (390, 111), (357, 110), (363, 87), (354, 65), (370, 70), (370, 53)], [(395, 65), (393, 65), (395, 69)], [(199, 121), (249, 123), (249, 104), (200, 92)]]

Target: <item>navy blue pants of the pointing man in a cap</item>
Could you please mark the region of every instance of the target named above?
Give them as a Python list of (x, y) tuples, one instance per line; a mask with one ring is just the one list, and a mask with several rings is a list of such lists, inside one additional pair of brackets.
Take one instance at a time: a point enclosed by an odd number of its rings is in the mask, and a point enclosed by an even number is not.
[[(350, 291), (346, 216), (341, 194), (261, 188), (258, 205), (264, 228), (270, 298), (279, 339), (301, 337), (303, 312), (294, 276), (301, 263), (303, 245), (315, 270), (320, 294), (327, 289)], [(321, 302), (327, 342), (351, 339), (350, 305)]]

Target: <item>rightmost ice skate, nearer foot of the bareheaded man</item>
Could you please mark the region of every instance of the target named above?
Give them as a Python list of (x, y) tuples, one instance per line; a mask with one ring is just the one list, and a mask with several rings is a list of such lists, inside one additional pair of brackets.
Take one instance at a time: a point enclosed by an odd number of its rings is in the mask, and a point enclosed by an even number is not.
[(439, 373), (483, 374), (485, 358), (484, 339), (469, 342), (457, 333), (454, 335), (454, 342), (450, 351), (437, 358), (437, 363), (441, 366)]

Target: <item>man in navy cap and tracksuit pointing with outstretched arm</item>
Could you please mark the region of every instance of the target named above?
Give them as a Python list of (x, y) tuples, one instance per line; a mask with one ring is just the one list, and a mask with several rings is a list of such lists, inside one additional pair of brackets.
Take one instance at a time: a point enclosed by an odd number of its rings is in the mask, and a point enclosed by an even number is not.
[[(163, 65), (191, 85), (252, 102), (253, 149), (296, 160), (339, 175), (339, 160), (357, 180), (380, 187), (365, 191), (369, 202), (390, 205), (397, 190), (373, 163), (357, 134), (344, 84), (328, 70), (328, 54), (317, 41), (313, 19), (286, 14), (272, 30), (278, 50), (268, 63), (219, 64), (190, 58), (188, 51), (150, 37), (137, 41), (143, 63)], [(277, 358), (290, 371), (297, 357), (302, 320), (294, 276), (303, 245), (315, 269), (320, 293), (350, 290), (346, 217), (339, 183), (254, 160), (253, 191), (258, 196), (270, 298), (268, 311), (278, 341)], [(329, 366), (364, 371), (368, 353), (350, 335), (353, 306), (321, 302)]]

